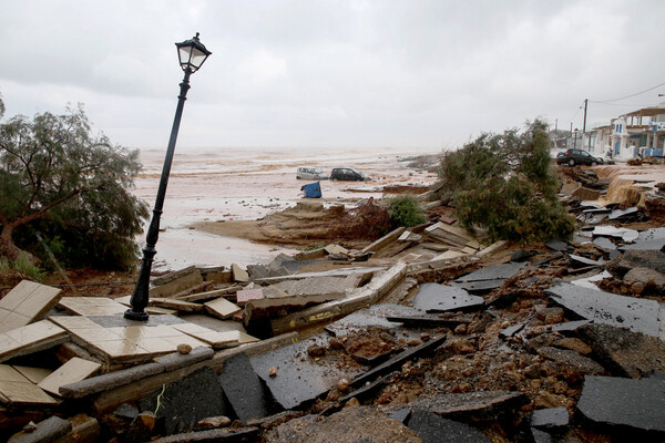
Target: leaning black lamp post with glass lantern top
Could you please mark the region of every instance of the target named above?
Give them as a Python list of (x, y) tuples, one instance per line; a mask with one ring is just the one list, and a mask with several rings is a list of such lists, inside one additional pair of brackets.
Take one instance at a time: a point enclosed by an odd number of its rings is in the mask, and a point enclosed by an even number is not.
[(124, 318), (130, 320), (146, 321), (149, 317), (147, 312), (145, 312), (145, 307), (147, 306), (149, 300), (150, 272), (152, 269), (153, 257), (157, 253), (155, 245), (157, 244), (157, 238), (160, 236), (160, 218), (162, 216), (164, 197), (166, 195), (166, 185), (168, 185), (168, 174), (171, 172), (171, 163), (173, 162), (177, 131), (180, 128), (185, 100), (187, 100), (187, 91), (190, 90), (190, 75), (198, 71), (203, 65), (203, 62), (212, 54), (212, 52), (206, 50), (203, 43), (198, 41), (198, 32), (196, 32), (196, 35), (191, 40), (175, 43), (175, 47), (177, 48), (180, 65), (185, 72), (185, 76), (180, 84), (181, 92), (177, 96), (177, 107), (175, 109), (175, 117), (173, 119), (171, 138), (168, 138), (168, 147), (166, 148), (166, 157), (164, 158), (164, 167), (162, 168), (162, 178), (160, 179), (160, 188), (155, 199), (153, 217), (150, 222), (150, 227), (147, 228), (147, 235), (145, 236), (143, 262), (141, 264), (139, 280), (136, 280), (136, 286), (134, 287), (134, 292), (130, 300), (131, 308), (124, 313)]

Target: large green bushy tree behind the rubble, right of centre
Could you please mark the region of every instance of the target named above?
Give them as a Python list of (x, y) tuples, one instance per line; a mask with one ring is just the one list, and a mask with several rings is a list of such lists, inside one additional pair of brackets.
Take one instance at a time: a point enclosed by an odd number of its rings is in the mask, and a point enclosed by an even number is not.
[(523, 132), (483, 134), (443, 156), (441, 197), (450, 198), (464, 227), (484, 229), (492, 240), (567, 237), (574, 219), (556, 196), (560, 182), (549, 148), (548, 126), (538, 120)]

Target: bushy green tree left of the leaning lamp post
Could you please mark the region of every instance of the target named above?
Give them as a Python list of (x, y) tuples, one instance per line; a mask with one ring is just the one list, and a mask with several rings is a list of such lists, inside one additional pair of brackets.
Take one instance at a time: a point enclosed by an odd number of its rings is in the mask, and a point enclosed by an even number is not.
[(28, 233), (39, 227), (88, 265), (130, 266), (149, 215), (130, 192), (140, 171), (139, 152), (93, 135), (82, 105), (1, 123), (0, 256), (38, 262), (21, 247), (38, 250)]

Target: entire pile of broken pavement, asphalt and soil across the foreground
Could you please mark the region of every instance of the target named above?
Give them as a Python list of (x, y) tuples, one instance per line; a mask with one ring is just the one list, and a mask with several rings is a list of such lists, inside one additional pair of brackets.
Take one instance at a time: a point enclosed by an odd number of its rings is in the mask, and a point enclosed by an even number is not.
[(663, 441), (665, 228), (579, 188), (571, 239), (483, 246), (437, 212), (359, 249), (153, 278), (147, 322), (23, 281), (0, 299), (0, 435)]

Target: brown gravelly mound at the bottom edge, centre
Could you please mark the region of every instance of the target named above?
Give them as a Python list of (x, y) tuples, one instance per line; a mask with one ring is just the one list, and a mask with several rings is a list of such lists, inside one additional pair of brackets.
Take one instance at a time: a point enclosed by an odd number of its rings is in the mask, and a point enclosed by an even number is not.
[(345, 408), (330, 416), (294, 419), (268, 431), (265, 440), (267, 443), (421, 442), (399, 421), (364, 406)]

